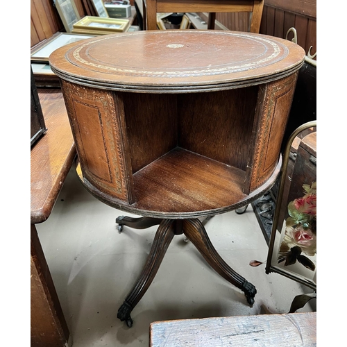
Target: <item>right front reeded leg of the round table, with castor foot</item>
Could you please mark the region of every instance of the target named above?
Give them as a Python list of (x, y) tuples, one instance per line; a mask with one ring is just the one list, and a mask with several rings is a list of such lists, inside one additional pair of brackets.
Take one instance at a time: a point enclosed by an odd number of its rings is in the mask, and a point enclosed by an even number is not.
[(201, 221), (198, 219), (185, 219), (183, 221), (183, 232), (187, 239), (189, 239), (190, 242), (196, 246), (208, 264), (210, 264), (210, 266), (212, 266), (212, 268), (217, 271), (219, 275), (228, 280), (228, 282), (244, 291), (247, 302), (250, 305), (253, 305), (254, 296), (257, 294), (257, 289), (255, 289), (250, 282), (247, 282), (241, 275), (232, 270), (231, 267), (224, 262), (210, 242), (208, 233), (206, 232)]

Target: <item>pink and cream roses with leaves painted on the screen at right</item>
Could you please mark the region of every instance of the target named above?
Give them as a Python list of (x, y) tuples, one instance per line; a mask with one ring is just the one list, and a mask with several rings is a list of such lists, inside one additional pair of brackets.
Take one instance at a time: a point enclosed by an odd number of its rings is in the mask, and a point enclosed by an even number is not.
[(304, 196), (288, 204), (289, 217), (285, 221), (285, 237), (280, 246), (278, 264), (285, 266), (296, 261), (314, 271), (316, 266), (306, 256), (316, 254), (316, 182), (303, 185)]

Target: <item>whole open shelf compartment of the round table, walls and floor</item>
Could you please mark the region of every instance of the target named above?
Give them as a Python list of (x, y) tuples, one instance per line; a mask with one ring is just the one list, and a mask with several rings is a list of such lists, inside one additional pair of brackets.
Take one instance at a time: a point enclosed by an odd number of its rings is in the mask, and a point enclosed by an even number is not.
[(119, 93), (134, 206), (184, 213), (242, 201), (257, 92), (253, 86), (190, 94)]

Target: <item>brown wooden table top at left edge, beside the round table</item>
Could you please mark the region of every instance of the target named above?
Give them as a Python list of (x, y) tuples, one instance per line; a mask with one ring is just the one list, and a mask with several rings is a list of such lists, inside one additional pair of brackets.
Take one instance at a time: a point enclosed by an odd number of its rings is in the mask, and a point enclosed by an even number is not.
[(38, 89), (48, 129), (31, 149), (31, 223), (51, 214), (76, 155), (61, 90)]

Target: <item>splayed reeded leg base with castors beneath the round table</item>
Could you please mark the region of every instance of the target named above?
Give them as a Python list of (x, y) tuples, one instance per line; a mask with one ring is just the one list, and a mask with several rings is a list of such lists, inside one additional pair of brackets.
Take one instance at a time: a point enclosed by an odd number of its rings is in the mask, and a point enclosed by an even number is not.
[[(206, 220), (207, 219), (205, 219), (205, 221)], [(155, 219), (149, 217), (118, 217), (116, 221), (121, 226), (130, 226), (131, 228), (138, 229), (149, 228), (149, 226), (160, 224), (155, 233), (151, 252), (146, 260), (144, 269), (137, 279), (133, 289), (130, 291), (130, 294), (128, 294), (123, 305), (121, 305), (118, 310), (117, 318), (121, 321), (126, 321), (126, 325), (128, 325), (129, 328), (133, 326), (133, 319), (130, 317), (130, 312), (134, 309), (135, 305), (137, 305), (151, 285), (174, 235), (181, 235), (182, 233), (184, 233), (187, 239), (196, 246), (208, 264), (212, 266), (212, 269), (217, 271), (219, 275), (232, 283), (232, 285), (235, 285), (235, 287), (244, 291), (247, 302), (250, 305), (253, 305), (257, 289), (224, 262), (221, 256), (214, 249), (205, 227), (199, 219), (176, 220)]]

